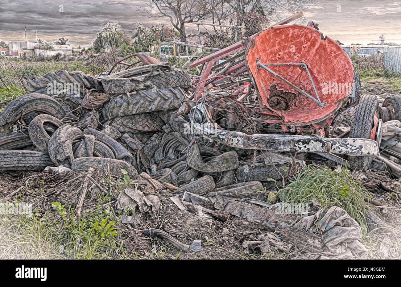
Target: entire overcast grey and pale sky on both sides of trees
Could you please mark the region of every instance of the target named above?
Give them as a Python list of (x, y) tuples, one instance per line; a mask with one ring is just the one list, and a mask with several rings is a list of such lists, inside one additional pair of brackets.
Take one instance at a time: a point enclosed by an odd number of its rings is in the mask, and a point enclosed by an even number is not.
[[(118, 21), (126, 32), (137, 22), (145, 26), (169, 24), (167, 18), (140, 16), (144, 13), (138, 12), (135, 5), (146, 7), (147, 3), (148, 0), (1, 0), (0, 40), (23, 40), (24, 24), (27, 40), (35, 40), (37, 26), (39, 38), (54, 41), (63, 36), (71, 45), (90, 44), (107, 22)], [(344, 44), (377, 42), (381, 34), (385, 41), (401, 44), (400, 1), (320, 0), (304, 15), (319, 22), (320, 31)]]

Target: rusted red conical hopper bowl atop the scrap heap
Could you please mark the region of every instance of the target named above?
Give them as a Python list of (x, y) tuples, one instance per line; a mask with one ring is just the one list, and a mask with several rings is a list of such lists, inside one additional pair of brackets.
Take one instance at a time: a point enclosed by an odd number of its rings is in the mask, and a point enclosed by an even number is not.
[[(340, 108), (353, 87), (354, 69), (350, 58), (340, 45), (314, 28), (303, 25), (270, 27), (251, 37), (246, 51), (247, 67), (261, 99), (259, 112), (267, 115), (268, 122), (294, 125), (320, 122)], [(257, 59), (260, 63), (306, 63), (320, 100), (327, 104), (318, 107), (287, 83), (258, 69)], [(267, 67), (316, 98), (308, 74), (302, 67)], [(334, 89), (336, 84), (340, 84), (337, 90)]]

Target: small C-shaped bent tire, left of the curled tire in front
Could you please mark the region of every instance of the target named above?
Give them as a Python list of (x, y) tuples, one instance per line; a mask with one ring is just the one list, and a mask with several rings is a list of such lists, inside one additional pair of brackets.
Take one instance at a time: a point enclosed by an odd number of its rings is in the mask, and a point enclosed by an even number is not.
[(63, 124), (61, 120), (48, 114), (40, 114), (30, 122), (28, 127), (29, 137), (35, 147), (43, 153), (47, 153), (47, 146), (51, 137), (43, 126), (45, 122), (56, 126), (56, 128), (59, 128)]

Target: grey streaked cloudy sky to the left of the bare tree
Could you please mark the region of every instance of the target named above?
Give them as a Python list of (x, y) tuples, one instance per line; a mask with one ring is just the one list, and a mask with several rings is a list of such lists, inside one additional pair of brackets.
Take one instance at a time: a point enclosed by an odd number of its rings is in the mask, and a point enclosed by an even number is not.
[[(62, 6), (60, 6), (62, 5)], [(126, 0), (2, 0), (0, 2), (0, 37), (10, 41), (22, 39), (24, 24), (28, 35), (53, 41), (64, 36), (71, 44), (90, 43), (97, 31), (107, 22), (118, 21), (125, 31), (133, 28), (136, 22), (146, 26), (168, 23), (167, 18), (152, 19), (137, 11), (135, 6), (147, 7), (144, 1)], [(60, 12), (62, 10), (62, 12)], [(33, 32), (32, 32), (33, 31)], [(30, 39), (34, 39), (30, 37)]]

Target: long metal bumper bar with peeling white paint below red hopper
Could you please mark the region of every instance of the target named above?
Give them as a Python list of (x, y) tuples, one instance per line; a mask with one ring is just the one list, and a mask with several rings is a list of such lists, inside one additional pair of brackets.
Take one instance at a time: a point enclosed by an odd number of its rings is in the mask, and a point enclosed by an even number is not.
[(211, 124), (198, 124), (190, 116), (191, 130), (223, 145), (239, 149), (264, 151), (293, 151), (306, 153), (334, 153), (354, 156), (379, 156), (375, 140), (367, 138), (324, 138), (318, 135), (245, 134), (211, 128)]

